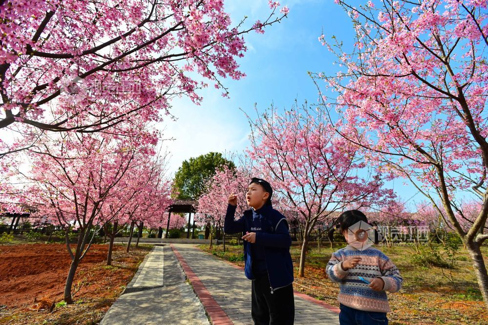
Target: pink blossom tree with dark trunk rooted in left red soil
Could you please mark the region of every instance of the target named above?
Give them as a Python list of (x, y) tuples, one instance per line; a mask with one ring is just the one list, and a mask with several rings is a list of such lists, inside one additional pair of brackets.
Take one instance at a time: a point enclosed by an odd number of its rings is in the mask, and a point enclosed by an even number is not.
[[(36, 203), (39, 216), (47, 216), (49, 223), (66, 229), (66, 248), (72, 261), (64, 288), (68, 304), (72, 303), (77, 267), (90, 248), (96, 228), (117, 217), (116, 210), (102, 214), (104, 204), (115, 198), (130, 200), (130, 191), (125, 191), (131, 186), (127, 175), (154, 154), (151, 145), (139, 141), (109, 134), (60, 133), (29, 150), (29, 158), (36, 163), (25, 174), (31, 183), (23, 200)], [(68, 239), (72, 229), (78, 232), (74, 248)]]

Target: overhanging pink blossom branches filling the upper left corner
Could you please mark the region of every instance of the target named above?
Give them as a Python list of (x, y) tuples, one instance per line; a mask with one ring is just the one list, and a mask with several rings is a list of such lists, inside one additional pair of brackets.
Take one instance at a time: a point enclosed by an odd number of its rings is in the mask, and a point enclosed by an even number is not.
[(0, 129), (21, 141), (0, 140), (0, 154), (31, 147), (42, 130), (161, 121), (175, 96), (201, 101), (197, 75), (227, 96), (222, 80), (245, 76), (244, 34), (280, 22), (288, 9), (278, 7), (246, 27), (223, 0), (1, 1)]

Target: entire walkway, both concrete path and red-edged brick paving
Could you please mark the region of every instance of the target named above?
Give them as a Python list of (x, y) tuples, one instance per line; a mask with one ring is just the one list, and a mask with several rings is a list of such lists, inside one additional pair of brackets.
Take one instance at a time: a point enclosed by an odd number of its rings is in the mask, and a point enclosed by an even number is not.
[[(339, 324), (338, 313), (295, 292), (297, 325)], [(209, 325), (208, 318), (212, 325), (253, 324), (251, 282), (238, 266), (194, 245), (171, 244), (154, 246), (100, 324)]]

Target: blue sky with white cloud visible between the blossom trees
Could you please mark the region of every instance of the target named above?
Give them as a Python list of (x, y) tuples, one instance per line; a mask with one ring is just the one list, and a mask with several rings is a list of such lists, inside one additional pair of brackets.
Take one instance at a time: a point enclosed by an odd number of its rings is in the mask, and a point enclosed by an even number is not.
[[(230, 99), (221, 90), (209, 88), (200, 92), (201, 106), (186, 99), (173, 101), (172, 113), (177, 122), (167, 122), (165, 137), (176, 140), (165, 145), (171, 152), (170, 172), (183, 160), (209, 151), (242, 151), (248, 144), (249, 124), (240, 108), (255, 116), (254, 104), (264, 110), (271, 103), (290, 108), (295, 99), (317, 102), (317, 89), (307, 71), (335, 74), (334, 56), (318, 41), (323, 33), (335, 35), (352, 45), (354, 31), (347, 14), (333, 0), (280, 1), (290, 13), (281, 23), (266, 28), (264, 35), (255, 32), (245, 36), (248, 51), (238, 62), (247, 77), (240, 81), (224, 80)], [(362, 2), (362, 1), (358, 1)], [(248, 16), (247, 23), (265, 20), (270, 9), (266, 0), (226, 1), (226, 11), (233, 22)], [(388, 183), (404, 200), (415, 194), (402, 180)], [(418, 194), (411, 201), (421, 201)]]

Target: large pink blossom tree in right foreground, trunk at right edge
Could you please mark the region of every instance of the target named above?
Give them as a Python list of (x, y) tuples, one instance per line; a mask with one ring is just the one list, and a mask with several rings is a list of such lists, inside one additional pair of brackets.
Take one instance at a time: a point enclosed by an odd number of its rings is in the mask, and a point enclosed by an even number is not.
[[(336, 0), (357, 37), (345, 51), (319, 39), (343, 67), (315, 74), (324, 107), (335, 108), (338, 132), (390, 177), (421, 192), (462, 238), (488, 306), (488, 273), (480, 246), (488, 217), (487, 1)], [(325, 81), (325, 87), (323, 84)], [(333, 90), (331, 92), (329, 90)], [(331, 115), (331, 121), (334, 120)], [(461, 200), (478, 197), (465, 228)]]

